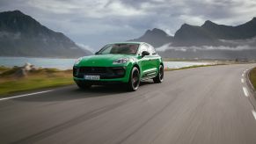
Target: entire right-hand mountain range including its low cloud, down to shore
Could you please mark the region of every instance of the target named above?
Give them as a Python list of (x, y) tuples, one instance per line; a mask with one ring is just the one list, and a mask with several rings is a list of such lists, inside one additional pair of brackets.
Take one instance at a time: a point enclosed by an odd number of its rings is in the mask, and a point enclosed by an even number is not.
[(153, 29), (135, 40), (152, 44), (163, 57), (256, 60), (256, 18), (237, 26), (210, 20), (203, 25), (183, 24), (173, 37)]

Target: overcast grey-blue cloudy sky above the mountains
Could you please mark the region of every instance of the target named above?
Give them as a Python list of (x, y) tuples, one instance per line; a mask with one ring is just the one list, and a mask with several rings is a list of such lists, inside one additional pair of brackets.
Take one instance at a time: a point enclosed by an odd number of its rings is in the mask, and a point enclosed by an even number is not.
[(173, 35), (183, 23), (240, 25), (256, 17), (256, 0), (0, 0), (0, 11), (13, 10), (99, 49), (155, 27)]

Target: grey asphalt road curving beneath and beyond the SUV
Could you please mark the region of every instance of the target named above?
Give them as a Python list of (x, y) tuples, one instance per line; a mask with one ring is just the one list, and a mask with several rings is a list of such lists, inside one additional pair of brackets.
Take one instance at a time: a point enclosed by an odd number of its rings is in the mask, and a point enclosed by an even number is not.
[[(75, 85), (0, 101), (0, 143), (255, 144), (243, 82), (255, 64), (165, 72), (165, 82), (78, 90)], [(244, 80), (245, 81), (245, 80)]]

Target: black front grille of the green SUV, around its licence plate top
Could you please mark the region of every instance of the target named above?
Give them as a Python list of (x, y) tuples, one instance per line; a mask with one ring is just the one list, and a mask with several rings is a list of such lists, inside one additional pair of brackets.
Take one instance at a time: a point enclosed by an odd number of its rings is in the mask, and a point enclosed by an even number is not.
[(125, 76), (123, 67), (74, 67), (73, 76), (84, 78), (85, 75), (99, 76), (100, 79), (121, 78)]

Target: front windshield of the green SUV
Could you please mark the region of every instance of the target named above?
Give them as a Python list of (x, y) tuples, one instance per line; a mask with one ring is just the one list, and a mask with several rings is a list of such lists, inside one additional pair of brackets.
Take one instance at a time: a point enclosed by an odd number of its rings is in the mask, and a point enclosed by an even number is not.
[(136, 54), (139, 44), (109, 44), (99, 50), (98, 54)]

